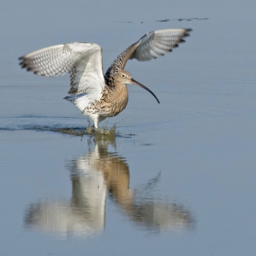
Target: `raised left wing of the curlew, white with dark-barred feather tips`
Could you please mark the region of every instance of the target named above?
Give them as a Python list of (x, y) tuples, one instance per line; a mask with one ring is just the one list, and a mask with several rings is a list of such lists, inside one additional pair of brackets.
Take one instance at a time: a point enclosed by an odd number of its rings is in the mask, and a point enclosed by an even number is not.
[(21, 68), (40, 76), (70, 73), (69, 94), (95, 93), (100, 98), (105, 88), (102, 49), (92, 43), (69, 43), (50, 46), (19, 58)]

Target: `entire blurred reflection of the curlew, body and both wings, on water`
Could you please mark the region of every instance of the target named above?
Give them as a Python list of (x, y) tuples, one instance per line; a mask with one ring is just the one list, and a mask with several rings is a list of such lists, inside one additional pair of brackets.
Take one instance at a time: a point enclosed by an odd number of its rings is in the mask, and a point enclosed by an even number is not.
[[(95, 137), (88, 144), (89, 153), (67, 164), (71, 199), (30, 204), (25, 214), (27, 228), (63, 237), (84, 238), (99, 233), (105, 228), (107, 195), (136, 226), (154, 231), (193, 227), (189, 210), (154, 195), (159, 174), (143, 186), (129, 188), (129, 166), (117, 153), (115, 137)], [(109, 145), (115, 148), (114, 152), (108, 150)]]

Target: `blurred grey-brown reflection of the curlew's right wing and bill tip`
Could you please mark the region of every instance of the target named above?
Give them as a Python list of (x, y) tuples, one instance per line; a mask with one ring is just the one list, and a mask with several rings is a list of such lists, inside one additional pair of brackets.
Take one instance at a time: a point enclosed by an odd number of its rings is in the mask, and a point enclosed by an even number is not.
[[(130, 200), (126, 199), (123, 202), (117, 200), (117, 203), (137, 226), (148, 230), (161, 231), (193, 227), (194, 217), (184, 206), (156, 199), (154, 187), (159, 182), (159, 178), (160, 173), (145, 185), (135, 189)], [(127, 191), (126, 194), (131, 194), (131, 191)]]

